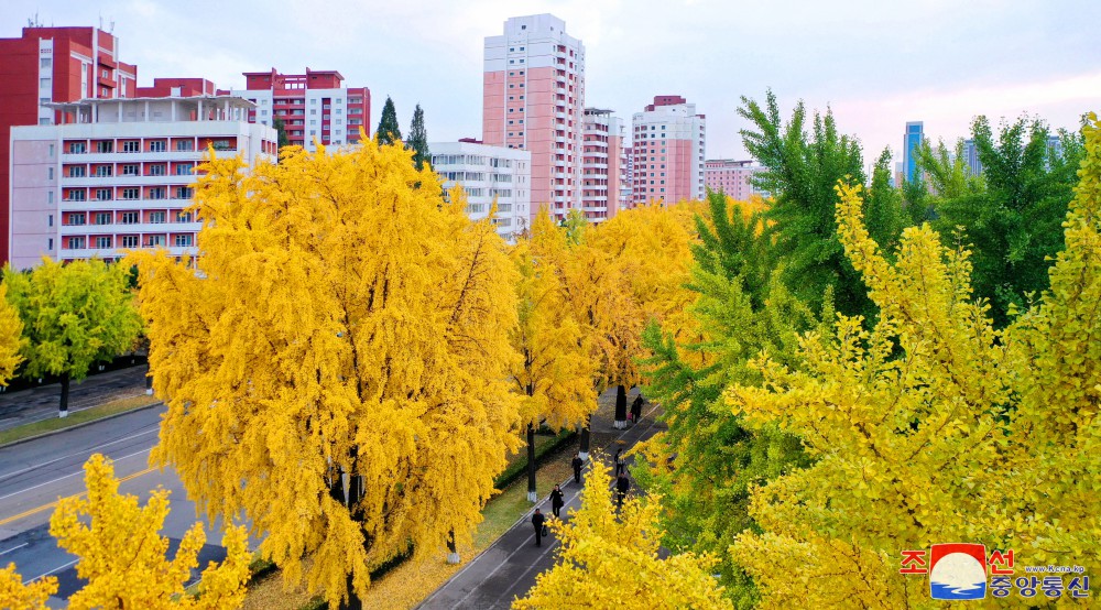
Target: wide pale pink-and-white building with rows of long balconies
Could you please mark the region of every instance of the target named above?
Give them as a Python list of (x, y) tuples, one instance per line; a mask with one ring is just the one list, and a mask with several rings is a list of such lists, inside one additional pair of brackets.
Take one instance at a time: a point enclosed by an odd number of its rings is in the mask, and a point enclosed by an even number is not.
[[(249, 124), (254, 106), (229, 96), (50, 102), (61, 124), (11, 130), (11, 233), (15, 269), (165, 248), (196, 254), (189, 213), (194, 168), (212, 146), (255, 163), (274, 160), (271, 127)], [(6, 148), (7, 150), (7, 148)]]

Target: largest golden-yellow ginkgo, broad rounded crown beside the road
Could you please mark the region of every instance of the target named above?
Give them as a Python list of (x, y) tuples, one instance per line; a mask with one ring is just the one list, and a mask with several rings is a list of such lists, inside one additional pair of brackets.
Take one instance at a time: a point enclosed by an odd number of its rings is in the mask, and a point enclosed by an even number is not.
[[(401, 145), (242, 170), (203, 167), (197, 269), (140, 259), (168, 404), (151, 460), (208, 514), (243, 511), (288, 580), (337, 603), (411, 544), (469, 541), (519, 446), (515, 271)], [(350, 508), (344, 480), (363, 490)]]

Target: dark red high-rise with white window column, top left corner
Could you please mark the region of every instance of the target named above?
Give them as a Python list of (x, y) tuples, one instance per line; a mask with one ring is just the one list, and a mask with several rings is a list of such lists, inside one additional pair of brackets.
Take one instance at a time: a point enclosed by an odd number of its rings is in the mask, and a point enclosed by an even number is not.
[(10, 249), (12, 127), (58, 122), (51, 102), (131, 98), (137, 86), (137, 66), (119, 61), (119, 40), (98, 28), (24, 28), (0, 39), (0, 264)]

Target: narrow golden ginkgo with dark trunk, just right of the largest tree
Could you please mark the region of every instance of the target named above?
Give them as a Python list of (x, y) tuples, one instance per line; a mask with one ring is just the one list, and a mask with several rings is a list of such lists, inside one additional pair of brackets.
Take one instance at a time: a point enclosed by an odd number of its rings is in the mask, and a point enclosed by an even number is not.
[(522, 396), (521, 417), (527, 438), (527, 500), (535, 502), (535, 431), (541, 424), (562, 429), (585, 422), (597, 407), (589, 338), (577, 319), (565, 286), (573, 252), (566, 231), (546, 210), (532, 225), (531, 237), (513, 249), (520, 272), (516, 284), (519, 324), (511, 333), (520, 358), (509, 370)]

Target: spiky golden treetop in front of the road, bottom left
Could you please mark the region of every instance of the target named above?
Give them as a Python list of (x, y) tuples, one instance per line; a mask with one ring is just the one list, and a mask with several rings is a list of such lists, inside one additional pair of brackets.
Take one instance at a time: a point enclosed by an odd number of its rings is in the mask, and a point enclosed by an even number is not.
[(157, 534), (168, 515), (168, 492), (152, 492), (144, 508), (135, 495), (119, 494), (111, 462), (95, 454), (85, 464), (85, 498), (65, 498), (50, 519), (50, 533), (62, 548), (77, 555), (77, 575), (88, 584), (69, 598), (69, 608), (237, 608), (249, 578), (247, 536), (229, 527), (222, 538), (227, 557), (203, 571), (203, 595), (184, 592), (198, 552), (206, 543), (196, 523), (184, 534), (173, 560), (165, 559), (168, 538)]

